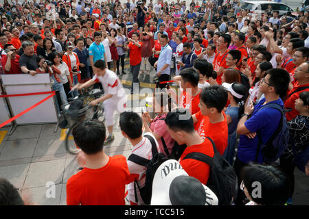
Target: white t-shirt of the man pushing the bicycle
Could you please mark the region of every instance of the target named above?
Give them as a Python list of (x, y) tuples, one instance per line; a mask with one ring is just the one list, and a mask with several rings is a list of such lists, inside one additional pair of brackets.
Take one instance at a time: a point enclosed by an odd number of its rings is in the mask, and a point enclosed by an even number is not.
[(126, 96), (124, 87), (119, 77), (111, 70), (105, 69), (104, 76), (93, 76), (93, 81), (98, 81), (102, 84), (105, 94), (112, 94), (113, 96), (109, 101), (119, 101)]

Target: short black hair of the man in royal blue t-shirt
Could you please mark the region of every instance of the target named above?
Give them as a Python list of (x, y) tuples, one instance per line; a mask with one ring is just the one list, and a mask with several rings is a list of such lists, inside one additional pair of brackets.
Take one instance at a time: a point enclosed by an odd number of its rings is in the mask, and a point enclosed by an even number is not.
[(271, 68), (266, 71), (266, 74), (270, 75), (269, 83), (275, 88), (276, 94), (284, 99), (290, 83), (290, 74), (282, 68)]

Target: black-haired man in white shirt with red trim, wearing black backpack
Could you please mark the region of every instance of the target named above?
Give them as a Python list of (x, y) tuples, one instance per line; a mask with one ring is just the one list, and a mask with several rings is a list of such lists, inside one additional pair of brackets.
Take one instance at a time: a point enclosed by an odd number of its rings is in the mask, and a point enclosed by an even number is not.
[[(146, 132), (142, 135), (143, 122), (141, 116), (135, 112), (122, 112), (119, 118), (119, 127), (122, 135), (133, 145), (132, 155), (137, 155), (142, 159), (151, 160), (152, 141), (155, 142), (157, 151), (160, 151), (159, 144), (152, 133)], [(148, 138), (147, 138), (148, 136)], [(150, 138), (150, 139), (149, 139)], [(128, 200), (130, 205), (145, 205), (139, 188), (143, 188), (146, 184), (146, 166), (141, 166), (128, 158), (128, 169), (130, 171), (130, 183), (128, 184)]]

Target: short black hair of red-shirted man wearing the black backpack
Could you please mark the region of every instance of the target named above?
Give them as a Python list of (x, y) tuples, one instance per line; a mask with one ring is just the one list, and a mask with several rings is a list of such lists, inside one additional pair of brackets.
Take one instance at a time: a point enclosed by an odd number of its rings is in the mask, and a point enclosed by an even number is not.
[[(165, 123), (172, 131), (185, 131), (187, 133), (194, 132), (193, 118), (181, 119), (180, 116), (190, 114), (188, 110), (176, 109), (176, 112), (169, 112), (165, 117)], [(191, 115), (191, 114), (190, 114)]]

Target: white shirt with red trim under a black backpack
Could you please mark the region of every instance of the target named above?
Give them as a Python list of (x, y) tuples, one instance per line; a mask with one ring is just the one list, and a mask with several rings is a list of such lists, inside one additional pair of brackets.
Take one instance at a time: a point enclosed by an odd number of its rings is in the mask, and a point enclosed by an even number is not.
[[(157, 140), (155, 139), (155, 136), (153, 136), (152, 133), (150, 132), (144, 133), (143, 136), (145, 135), (152, 136), (152, 138), (154, 138), (156, 145), (157, 145), (157, 150), (158, 152), (160, 152), (159, 144)], [(150, 140), (148, 140), (148, 138), (146, 137), (143, 137), (141, 142), (133, 146), (132, 153), (134, 153), (135, 155), (138, 155), (139, 157), (143, 157), (146, 159), (152, 159), (151, 149), (152, 149), (152, 145), (150, 143)], [(135, 164), (134, 162), (131, 162), (129, 160), (127, 163), (128, 163), (128, 169), (129, 169), (130, 174), (137, 175), (137, 183), (139, 183), (139, 187), (143, 187), (145, 185), (145, 179), (146, 179), (145, 177), (146, 167)], [(135, 203), (134, 182), (128, 184), (128, 199)], [(137, 188), (137, 199), (138, 199), (139, 205), (144, 204), (144, 202), (141, 200), (141, 196), (139, 194), (138, 188)]]

